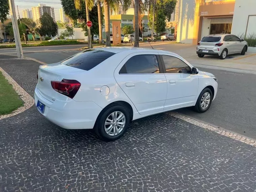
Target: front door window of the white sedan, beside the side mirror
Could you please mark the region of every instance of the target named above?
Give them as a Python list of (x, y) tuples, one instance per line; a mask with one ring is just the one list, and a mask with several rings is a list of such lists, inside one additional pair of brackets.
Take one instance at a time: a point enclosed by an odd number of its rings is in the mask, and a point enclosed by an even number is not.
[(162, 57), (166, 73), (190, 73), (190, 67), (182, 60), (168, 55)]

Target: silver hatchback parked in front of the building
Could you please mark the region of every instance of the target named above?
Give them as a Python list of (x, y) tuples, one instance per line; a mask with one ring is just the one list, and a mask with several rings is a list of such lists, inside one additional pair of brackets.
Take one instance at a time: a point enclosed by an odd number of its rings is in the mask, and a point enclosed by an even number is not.
[(231, 34), (207, 35), (197, 43), (196, 53), (198, 57), (204, 55), (216, 55), (225, 59), (227, 55), (240, 53), (245, 55), (248, 43), (244, 39)]

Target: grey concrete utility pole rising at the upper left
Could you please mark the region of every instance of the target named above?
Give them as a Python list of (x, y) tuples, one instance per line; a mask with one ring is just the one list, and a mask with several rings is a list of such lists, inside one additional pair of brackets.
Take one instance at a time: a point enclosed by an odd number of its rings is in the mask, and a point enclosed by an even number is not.
[(14, 0), (9, 0), (9, 6), (10, 6), (10, 15), (11, 15), (15, 45), (17, 50), (17, 56), (18, 56), (18, 59), (23, 59), (23, 51), (21, 46), (21, 38), (20, 38), (20, 32), (19, 32), (19, 27), (17, 22), (17, 15), (15, 11)]

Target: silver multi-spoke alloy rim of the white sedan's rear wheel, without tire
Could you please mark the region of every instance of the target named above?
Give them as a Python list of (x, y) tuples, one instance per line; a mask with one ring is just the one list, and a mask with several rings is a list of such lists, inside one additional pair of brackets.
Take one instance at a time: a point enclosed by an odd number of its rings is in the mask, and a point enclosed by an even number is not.
[(125, 126), (125, 115), (120, 111), (114, 111), (111, 113), (104, 124), (105, 132), (110, 136), (116, 136), (120, 134)]

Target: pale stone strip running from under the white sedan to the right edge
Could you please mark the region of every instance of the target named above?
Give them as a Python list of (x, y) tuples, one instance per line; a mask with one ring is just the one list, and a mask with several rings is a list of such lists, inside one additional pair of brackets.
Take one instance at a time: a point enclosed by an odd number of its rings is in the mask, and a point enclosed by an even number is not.
[(186, 117), (186, 116), (181, 115), (179, 113), (169, 112), (167, 114), (170, 115), (170, 116), (173, 116), (175, 118), (181, 119), (183, 121), (186, 121), (188, 123), (191, 123), (191, 124), (197, 125), (199, 127), (202, 127), (204, 129), (208, 129), (208, 130), (214, 131), (214, 132), (216, 132), (216, 133), (218, 133), (220, 135), (224, 135), (226, 137), (229, 137), (229, 138), (232, 138), (232, 139), (235, 139), (235, 140), (238, 140), (238, 141), (241, 141), (243, 143), (246, 143), (246, 144), (249, 144), (251, 146), (256, 147), (256, 140), (254, 140), (252, 138), (249, 138), (249, 137), (246, 137), (244, 135), (240, 135), (238, 133), (231, 132), (231, 131), (225, 130), (223, 128), (220, 128), (220, 127), (214, 127), (212, 125), (203, 123), (201, 121), (198, 121), (198, 120)]

